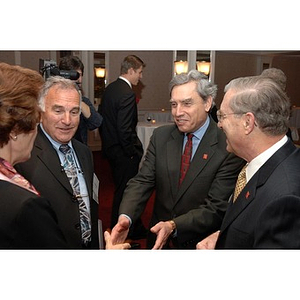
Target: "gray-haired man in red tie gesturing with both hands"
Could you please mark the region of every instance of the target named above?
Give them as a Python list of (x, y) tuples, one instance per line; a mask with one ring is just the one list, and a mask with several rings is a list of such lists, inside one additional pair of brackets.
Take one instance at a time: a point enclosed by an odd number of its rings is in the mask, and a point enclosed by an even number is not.
[[(207, 233), (219, 228), (245, 162), (226, 151), (225, 135), (209, 117), (216, 92), (216, 85), (195, 70), (171, 80), (175, 124), (154, 131), (142, 167), (124, 192), (113, 243), (124, 241), (154, 190), (148, 248), (195, 248)], [(194, 135), (192, 158), (180, 183), (188, 133)]]

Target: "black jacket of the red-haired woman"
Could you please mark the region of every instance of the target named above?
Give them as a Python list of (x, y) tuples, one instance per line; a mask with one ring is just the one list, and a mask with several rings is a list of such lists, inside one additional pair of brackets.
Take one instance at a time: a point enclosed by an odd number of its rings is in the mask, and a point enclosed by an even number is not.
[(26, 189), (0, 180), (0, 248), (68, 248), (50, 203)]

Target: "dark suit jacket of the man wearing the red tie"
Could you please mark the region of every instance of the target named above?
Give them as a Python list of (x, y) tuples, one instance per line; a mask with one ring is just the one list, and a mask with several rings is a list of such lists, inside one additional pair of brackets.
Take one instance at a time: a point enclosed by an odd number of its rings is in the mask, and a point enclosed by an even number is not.
[[(244, 160), (226, 151), (224, 133), (211, 120), (181, 186), (178, 186), (184, 134), (175, 125), (154, 130), (143, 165), (129, 181), (120, 214), (135, 221), (155, 189), (150, 226), (174, 219), (178, 248), (196, 243), (219, 229)], [(149, 247), (156, 236), (149, 237)]]

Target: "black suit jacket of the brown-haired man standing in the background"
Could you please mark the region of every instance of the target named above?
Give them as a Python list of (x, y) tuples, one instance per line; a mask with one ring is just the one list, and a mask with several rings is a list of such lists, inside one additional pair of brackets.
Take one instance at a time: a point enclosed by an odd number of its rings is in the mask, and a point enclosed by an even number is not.
[(118, 78), (107, 86), (101, 103), (103, 151), (108, 158), (143, 155), (136, 133), (138, 122), (136, 97), (130, 86)]

